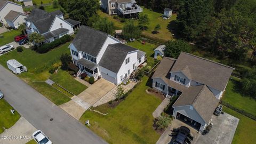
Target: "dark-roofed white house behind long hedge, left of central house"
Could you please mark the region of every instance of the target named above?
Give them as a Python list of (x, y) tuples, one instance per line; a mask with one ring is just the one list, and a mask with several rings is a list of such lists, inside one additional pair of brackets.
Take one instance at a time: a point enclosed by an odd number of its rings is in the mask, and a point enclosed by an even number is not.
[(74, 34), (74, 25), (63, 19), (60, 10), (48, 13), (34, 9), (25, 20), (27, 34), (34, 32), (41, 34), (45, 38), (44, 43), (53, 42), (63, 35)]

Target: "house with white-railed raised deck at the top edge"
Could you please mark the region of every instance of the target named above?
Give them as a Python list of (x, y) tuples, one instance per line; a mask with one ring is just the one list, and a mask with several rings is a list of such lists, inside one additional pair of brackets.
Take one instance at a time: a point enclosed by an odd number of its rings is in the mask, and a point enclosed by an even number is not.
[(108, 14), (135, 16), (142, 8), (134, 0), (101, 0), (101, 7)]

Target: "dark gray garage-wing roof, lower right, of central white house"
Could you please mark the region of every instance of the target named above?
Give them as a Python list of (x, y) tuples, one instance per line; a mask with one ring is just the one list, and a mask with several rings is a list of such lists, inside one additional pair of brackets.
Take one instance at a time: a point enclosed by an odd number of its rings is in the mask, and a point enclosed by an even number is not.
[(137, 49), (121, 43), (110, 44), (103, 54), (99, 65), (113, 71), (114, 73), (118, 73), (126, 58), (126, 55), (132, 51), (137, 51)]

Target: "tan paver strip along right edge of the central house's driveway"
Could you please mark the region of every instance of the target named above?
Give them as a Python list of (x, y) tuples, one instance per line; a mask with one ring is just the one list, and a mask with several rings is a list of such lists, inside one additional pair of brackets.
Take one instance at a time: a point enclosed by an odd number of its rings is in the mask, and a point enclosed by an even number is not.
[[(121, 85), (124, 88), (124, 92), (127, 92), (129, 90), (131, 90), (134, 85), (136, 85), (135, 82), (130, 81), (129, 84), (127, 85)], [(94, 103), (92, 106), (93, 107), (97, 107), (100, 105), (103, 105), (104, 103), (107, 103), (111, 100), (115, 100), (115, 93), (117, 92), (117, 86), (115, 86), (112, 90), (110, 90), (107, 94), (105, 94), (99, 101), (97, 101), (96, 103)]]

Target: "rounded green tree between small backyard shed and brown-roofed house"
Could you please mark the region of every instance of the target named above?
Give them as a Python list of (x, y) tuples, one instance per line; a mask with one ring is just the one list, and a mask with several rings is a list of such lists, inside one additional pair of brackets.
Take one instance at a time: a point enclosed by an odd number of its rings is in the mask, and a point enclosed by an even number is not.
[(181, 52), (190, 52), (191, 46), (182, 40), (168, 41), (164, 50), (165, 57), (177, 59)]

